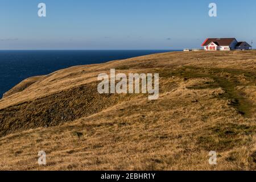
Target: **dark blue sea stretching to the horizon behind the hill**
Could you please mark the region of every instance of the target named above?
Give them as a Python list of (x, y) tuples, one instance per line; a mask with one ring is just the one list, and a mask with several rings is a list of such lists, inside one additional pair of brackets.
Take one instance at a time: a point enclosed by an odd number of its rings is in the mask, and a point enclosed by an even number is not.
[(0, 51), (0, 97), (31, 76), (46, 75), (73, 65), (104, 63), (161, 52), (170, 51)]

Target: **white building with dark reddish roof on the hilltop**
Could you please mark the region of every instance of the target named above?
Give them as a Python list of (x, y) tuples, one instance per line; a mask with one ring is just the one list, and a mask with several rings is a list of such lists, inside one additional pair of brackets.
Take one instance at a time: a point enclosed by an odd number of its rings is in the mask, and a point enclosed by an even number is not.
[[(242, 46), (241, 46), (242, 45)], [(230, 51), (234, 49), (250, 49), (250, 44), (237, 42), (235, 38), (208, 38), (201, 45), (205, 51)]]

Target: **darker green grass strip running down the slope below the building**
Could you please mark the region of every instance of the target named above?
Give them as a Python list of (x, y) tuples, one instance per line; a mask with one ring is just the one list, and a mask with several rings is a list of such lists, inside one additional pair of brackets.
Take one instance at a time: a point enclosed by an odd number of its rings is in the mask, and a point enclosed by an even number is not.
[[(244, 71), (240, 69), (224, 68), (198, 68), (181, 67), (171, 69), (157, 69), (160, 77), (181, 77), (184, 81), (190, 78), (212, 78), (214, 82), (205, 82), (201, 85), (190, 86), (188, 89), (208, 89), (222, 88), (225, 94), (220, 95), (220, 99), (229, 100), (229, 105), (233, 106), (238, 113), (245, 117), (250, 117), (253, 103), (249, 102), (242, 92), (236, 89), (237, 86), (248, 86), (256, 83), (256, 72)], [(243, 76), (246, 82), (240, 82), (239, 76)]]

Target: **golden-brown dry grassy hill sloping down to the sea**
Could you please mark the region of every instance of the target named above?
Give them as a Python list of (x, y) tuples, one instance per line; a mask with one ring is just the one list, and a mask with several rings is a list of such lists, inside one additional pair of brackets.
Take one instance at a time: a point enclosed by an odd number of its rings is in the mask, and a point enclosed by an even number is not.
[[(159, 73), (159, 99), (98, 94), (110, 68)], [(0, 169), (255, 170), (255, 78), (256, 51), (159, 53), (28, 78), (0, 100)]]

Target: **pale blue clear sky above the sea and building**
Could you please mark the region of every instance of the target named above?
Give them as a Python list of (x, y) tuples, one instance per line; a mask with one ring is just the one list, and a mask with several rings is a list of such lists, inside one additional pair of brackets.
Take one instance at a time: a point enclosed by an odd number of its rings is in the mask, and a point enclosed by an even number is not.
[(256, 1), (0, 0), (0, 23), (0, 49), (199, 48), (208, 37), (256, 43)]

